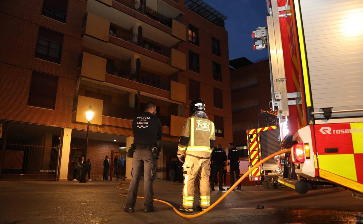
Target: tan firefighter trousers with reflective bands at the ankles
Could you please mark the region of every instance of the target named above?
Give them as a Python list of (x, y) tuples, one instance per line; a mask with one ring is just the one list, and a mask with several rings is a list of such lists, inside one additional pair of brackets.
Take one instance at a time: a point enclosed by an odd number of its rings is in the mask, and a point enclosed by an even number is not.
[(199, 187), (199, 205), (208, 208), (211, 201), (209, 191), (209, 176), (211, 174), (210, 159), (199, 159), (194, 156), (185, 156), (183, 164), (183, 207), (193, 208), (195, 182)]

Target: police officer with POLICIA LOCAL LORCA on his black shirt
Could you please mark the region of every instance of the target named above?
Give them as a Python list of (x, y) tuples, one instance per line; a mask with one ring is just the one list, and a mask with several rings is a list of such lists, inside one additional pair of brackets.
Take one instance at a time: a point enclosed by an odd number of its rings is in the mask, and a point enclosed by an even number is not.
[(156, 114), (156, 106), (148, 102), (145, 111), (132, 121), (134, 144), (136, 146), (132, 159), (132, 177), (127, 193), (124, 212), (134, 212), (141, 172), (144, 169), (144, 212), (155, 212), (154, 190), (152, 184), (156, 176), (157, 158), (151, 151), (156, 142), (161, 140), (163, 127)]

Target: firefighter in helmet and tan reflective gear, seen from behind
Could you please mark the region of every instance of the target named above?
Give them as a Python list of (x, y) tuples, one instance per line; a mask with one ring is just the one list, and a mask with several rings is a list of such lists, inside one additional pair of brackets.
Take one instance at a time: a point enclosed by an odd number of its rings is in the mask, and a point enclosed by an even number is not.
[(192, 116), (184, 122), (178, 145), (178, 159), (184, 163), (183, 204), (179, 210), (193, 211), (194, 182), (199, 182), (199, 205), (197, 210), (209, 207), (209, 175), (211, 152), (215, 146), (214, 123), (205, 114), (205, 103), (194, 99), (189, 105)]

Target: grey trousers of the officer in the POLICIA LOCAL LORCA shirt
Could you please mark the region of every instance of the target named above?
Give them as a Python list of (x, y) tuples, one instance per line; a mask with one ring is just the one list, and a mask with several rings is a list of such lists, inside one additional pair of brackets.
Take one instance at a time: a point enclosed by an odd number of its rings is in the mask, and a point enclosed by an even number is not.
[(134, 208), (139, 188), (140, 178), (144, 170), (144, 208), (154, 205), (154, 189), (152, 184), (156, 176), (158, 160), (150, 150), (150, 146), (136, 146), (132, 159), (131, 182), (126, 197), (126, 208)]

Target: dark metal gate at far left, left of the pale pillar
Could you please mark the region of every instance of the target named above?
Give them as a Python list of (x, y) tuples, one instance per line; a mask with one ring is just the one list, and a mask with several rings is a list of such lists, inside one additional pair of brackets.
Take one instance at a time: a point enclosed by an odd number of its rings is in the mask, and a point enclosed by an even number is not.
[(55, 180), (59, 150), (59, 145), (7, 141), (1, 180)]

